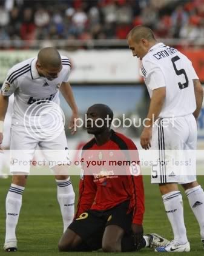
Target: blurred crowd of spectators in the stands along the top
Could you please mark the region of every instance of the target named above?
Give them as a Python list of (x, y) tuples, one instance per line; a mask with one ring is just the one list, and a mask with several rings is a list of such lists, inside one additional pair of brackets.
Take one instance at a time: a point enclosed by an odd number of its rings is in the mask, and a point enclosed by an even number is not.
[(202, 39), (204, 0), (4, 0), (0, 40), (125, 39), (139, 24), (160, 38)]

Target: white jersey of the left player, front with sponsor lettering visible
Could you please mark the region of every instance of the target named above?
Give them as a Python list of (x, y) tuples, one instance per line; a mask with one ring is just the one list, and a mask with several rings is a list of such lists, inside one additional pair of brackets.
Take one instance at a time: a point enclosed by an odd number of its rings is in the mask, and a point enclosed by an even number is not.
[[(71, 67), (70, 60), (66, 56), (61, 56), (61, 59), (62, 70), (59, 72), (58, 78), (52, 81), (39, 76), (38, 70), (36, 69), (37, 58), (22, 61), (8, 70), (7, 78), (1, 88), (1, 93), (5, 96), (10, 96), (14, 93), (15, 101), (12, 126), (25, 126), (24, 115), (30, 106), (28, 115), (32, 119), (32, 116), (36, 118), (39, 107), (41, 103), (45, 103), (45, 100), (59, 104), (59, 87), (62, 82), (68, 81)], [(38, 104), (38, 108), (36, 108), (35, 103)], [(43, 122), (42, 116), (40, 118), (41, 122)], [(43, 119), (47, 124), (53, 122), (46, 115), (43, 116)], [(32, 124), (32, 121), (30, 124)]]

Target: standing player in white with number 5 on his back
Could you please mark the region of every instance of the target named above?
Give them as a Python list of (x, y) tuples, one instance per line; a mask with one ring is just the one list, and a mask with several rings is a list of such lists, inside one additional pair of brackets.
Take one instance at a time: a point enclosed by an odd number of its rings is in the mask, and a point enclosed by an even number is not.
[[(199, 226), (204, 244), (204, 192), (195, 175), (166, 173), (161, 164), (164, 150), (196, 150), (196, 120), (203, 101), (203, 89), (191, 61), (173, 47), (157, 42), (148, 27), (134, 27), (128, 34), (128, 45), (142, 61), (140, 73), (144, 78), (151, 102), (140, 136), (143, 149), (156, 149), (159, 155), (159, 171), (153, 169), (151, 182), (158, 183), (166, 214), (174, 233), (174, 240), (157, 252), (189, 252), (183, 220), (183, 201), (178, 183), (182, 184), (189, 205)], [(154, 123), (154, 120), (156, 122)], [(168, 125), (163, 124), (168, 121)], [(173, 121), (174, 120), (174, 121)], [(157, 124), (157, 125), (156, 125)], [(186, 167), (196, 171), (196, 160)], [(192, 173), (192, 172), (190, 172)]]

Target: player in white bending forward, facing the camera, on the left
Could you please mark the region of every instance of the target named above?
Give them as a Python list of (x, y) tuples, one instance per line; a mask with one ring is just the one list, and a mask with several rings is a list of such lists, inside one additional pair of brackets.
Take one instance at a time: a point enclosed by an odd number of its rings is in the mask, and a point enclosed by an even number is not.
[[(20, 152), (17, 158), (20, 155), (22, 160), (27, 160), (29, 163), (33, 159), (36, 147), (39, 146), (42, 150), (60, 150), (60, 152), (63, 152), (60, 154), (63, 161), (67, 160), (67, 138), (62, 116), (58, 115), (57, 112), (56, 120), (50, 118), (49, 104), (59, 106), (59, 91), (61, 91), (72, 110), (69, 128), (71, 133), (74, 134), (74, 118), (77, 118), (78, 111), (68, 82), (70, 66), (67, 57), (59, 55), (56, 49), (47, 47), (39, 51), (38, 57), (16, 64), (8, 71), (0, 95), (0, 144), (3, 139), (4, 117), (7, 112), (8, 98), (14, 93), (15, 102), (10, 149), (13, 152)], [(44, 109), (42, 114), (39, 112), (41, 108)], [(46, 108), (48, 109), (47, 112), (45, 111)], [(50, 112), (52, 111), (56, 113), (51, 109)], [(56, 123), (57, 129), (51, 130), (53, 134), (50, 133), (50, 138), (47, 138), (47, 132), (50, 132), (49, 128), (53, 127), (54, 123)], [(49, 153), (46, 157), (48, 160), (53, 160)], [(67, 175), (68, 165), (61, 164), (60, 166), (56, 164), (56, 166), (52, 165), (50, 167), (55, 174), (58, 185), (58, 202), (65, 231), (74, 216), (74, 190), (70, 177)], [(11, 165), (10, 170), (13, 177), (5, 202), (6, 233), (4, 250), (16, 251), (16, 226), (30, 165)]]

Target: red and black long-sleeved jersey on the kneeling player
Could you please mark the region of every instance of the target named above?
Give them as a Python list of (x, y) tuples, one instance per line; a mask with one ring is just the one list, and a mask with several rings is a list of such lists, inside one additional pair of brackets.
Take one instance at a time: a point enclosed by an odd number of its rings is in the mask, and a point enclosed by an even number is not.
[[(110, 164), (110, 161), (116, 160), (111, 158), (113, 155), (117, 155), (121, 163), (139, 164), (137, 147), (133, 141), (113, 130), (110, 140), (102, 146), (97, 146), (93, 138), (83, 147), (84, 175), (79, 184), (76, 217), (88, 209), (104, 211), (130, 200), (128, 212), (133, 211), (133, 223), (142, 224), (145, 211), (142, 175), (133, 175), (130, 170), (135, 166), (130, 164), (119, 164), (116, 169), (115, 165)], [(96, 158), (104, 161), (104, 164), (88, 164)]]

